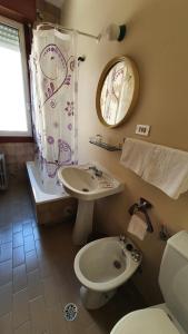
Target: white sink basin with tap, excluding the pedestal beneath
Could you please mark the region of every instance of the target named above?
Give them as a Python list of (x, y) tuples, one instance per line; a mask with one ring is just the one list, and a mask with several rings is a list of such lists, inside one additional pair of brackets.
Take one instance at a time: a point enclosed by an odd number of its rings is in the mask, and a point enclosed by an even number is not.
[(58, 177), (66, 191), (83, 200), (95, 200), (123, 190), (123, 185), (99, 164), (61, 167)]

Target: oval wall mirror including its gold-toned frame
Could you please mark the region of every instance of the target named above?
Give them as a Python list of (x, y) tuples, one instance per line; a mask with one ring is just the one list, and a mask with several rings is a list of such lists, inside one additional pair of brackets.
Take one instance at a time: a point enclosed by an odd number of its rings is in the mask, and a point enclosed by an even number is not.
[(139, 89), (135, 62), (128, 57), (117, 57), (105, 67), (97, 88), (96, 107), (100, 121), (115, 128), (132, 110)]

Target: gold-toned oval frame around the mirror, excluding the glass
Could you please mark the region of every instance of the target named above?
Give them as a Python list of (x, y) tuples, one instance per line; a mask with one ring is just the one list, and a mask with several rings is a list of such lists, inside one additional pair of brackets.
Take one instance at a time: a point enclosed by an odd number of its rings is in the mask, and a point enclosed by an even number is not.
[[(132, 95), (132, 99), (130, 102), (130, 106), (127, 110), (127, 114), (125, 115), (125, 117), (116, 125), (109, 125), (108, 122), (106, 122), (106, 120), (102, 117), (102, 112), (101, 112), (101, 106), (100, 106), (100, 97), (101, 97), (101, 91), (102, 91), (102, 87), (103, 87), (103, 82), (109, 73), (109, 71), (112, 69), (112, 67), (120, 62), (120, 61), (126, 61), (128, 62), (128, 65), (131, 67), (132, 73), (133, 73), (133, 95)], [(139, 75), (138, 75), (138, 70), (137, 70), (137, 66), (133, 62), (132, 59), (130, 59), (127, 56), (120, 56), (120, 57), (116, 57), (113, 59), (111, 59), (105, 67), (100, 78), (99, 78), (99, 82), (98, 82), (98, 87), (97, 87), (97, 94), (96, 94), (96, 108), (97, 108), (97, 115), (99, 120), (101, 121), (102, 125), (107, 126), (108, 128), (116, 128), (119, 127), (120, 125), (122, 125), (126, 119), (130, 116), (137, 99), (138, 99), (138, 92), (139, 92)]]

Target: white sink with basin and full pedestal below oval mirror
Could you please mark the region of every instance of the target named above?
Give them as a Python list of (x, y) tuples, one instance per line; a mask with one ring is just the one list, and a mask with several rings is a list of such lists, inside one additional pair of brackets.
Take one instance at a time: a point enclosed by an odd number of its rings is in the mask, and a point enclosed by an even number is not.
[(92, 232), (95, 200), (122, 191), (123, 185), (97, 163), (61, 167), (58, 177), (66, 191), (78, 198), (73, 243), (85, 245)]

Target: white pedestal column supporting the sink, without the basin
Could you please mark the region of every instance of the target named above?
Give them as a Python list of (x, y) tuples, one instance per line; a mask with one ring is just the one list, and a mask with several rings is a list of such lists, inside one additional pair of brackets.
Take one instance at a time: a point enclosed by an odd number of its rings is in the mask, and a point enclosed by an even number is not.
[(73, 244), (82, 246), (87, 244), (88, 236), (92, 232), (95, 200), (78, 200), (77, 218), (73, 227)]

